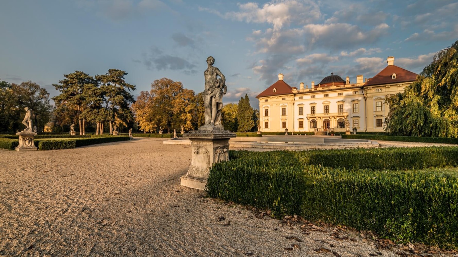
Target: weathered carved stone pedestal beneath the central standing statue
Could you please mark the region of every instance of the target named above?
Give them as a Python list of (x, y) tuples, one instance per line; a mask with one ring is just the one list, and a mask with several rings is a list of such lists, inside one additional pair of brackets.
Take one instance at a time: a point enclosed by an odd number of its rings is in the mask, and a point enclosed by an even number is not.
[(235, 133), (223, 126), (202, 126), (183, 135), (191, 140), (191, 166), (181, 177), (181, 186), (205, 190), (213, 163), (229, 160), (229, 139)]

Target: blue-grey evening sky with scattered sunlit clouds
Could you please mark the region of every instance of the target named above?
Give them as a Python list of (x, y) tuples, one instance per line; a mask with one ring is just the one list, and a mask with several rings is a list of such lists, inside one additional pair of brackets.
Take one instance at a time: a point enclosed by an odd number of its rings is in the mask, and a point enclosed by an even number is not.
[(420, 73), (458, 40), (456, 0), (1, 0), (0, 80), (59, 94), (75, 70), (124, 70), (134, 96), (154, 80), (204, 89), (208, 56), (226, 77), (224, 103), (284, 81), (333, 72), (371, 78), (394, 64)]

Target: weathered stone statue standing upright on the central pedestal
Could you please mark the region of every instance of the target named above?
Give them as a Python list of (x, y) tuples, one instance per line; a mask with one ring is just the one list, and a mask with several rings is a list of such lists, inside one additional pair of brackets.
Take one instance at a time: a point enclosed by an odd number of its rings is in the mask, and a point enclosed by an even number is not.
[[(221, 109), (223, 108), (223, 95), (226, 94), (226, 78), (218, 68), (213, 67), (215, 59), (207, 58), (207, 70), (204, 71), (205, 91), (203, 102), (205, 106), (205, 125), (221, 125)], [(220, 78), (218, 78), (220, 76)]]

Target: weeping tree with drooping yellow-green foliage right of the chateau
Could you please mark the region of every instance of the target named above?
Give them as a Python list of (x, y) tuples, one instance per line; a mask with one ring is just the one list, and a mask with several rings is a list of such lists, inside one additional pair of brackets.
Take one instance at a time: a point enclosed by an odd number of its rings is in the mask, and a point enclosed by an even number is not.
[(387, 97), (390, 134), (458, 137), (458, 41), (438, 52), (403, 93)]

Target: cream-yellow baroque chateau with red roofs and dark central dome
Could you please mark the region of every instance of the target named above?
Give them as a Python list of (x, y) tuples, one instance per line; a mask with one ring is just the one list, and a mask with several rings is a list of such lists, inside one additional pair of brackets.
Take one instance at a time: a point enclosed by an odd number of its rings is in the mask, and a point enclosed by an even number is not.
[[(384, 131), (385, 117), (389, 107), (385, 98), (402, 92), (417, 74), (394, 65), (394, 57), (387, 58), (387, 67), (370, 79), (356, 76), (356, 83), (349, 77), (325, 77), (311, 87), (300, 83), (299, 89), (284, 82), (283, 74), (278, 81), (260, 93), (259, 118), (262, 132), (313, 132), (345, 131), (345, 121), (350, 129), (358, 131)], [(323, 132), (322, 132), (323, 133)]]

